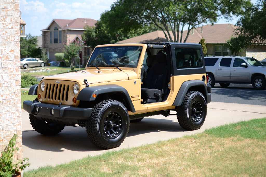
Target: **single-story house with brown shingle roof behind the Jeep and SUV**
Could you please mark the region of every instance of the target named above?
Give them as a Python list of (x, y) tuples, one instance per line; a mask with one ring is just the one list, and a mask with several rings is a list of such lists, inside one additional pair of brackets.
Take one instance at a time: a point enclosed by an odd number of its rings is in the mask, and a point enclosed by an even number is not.
[[(236, 26), (232, 24), (214, 24), (198, 27), (190, 31), (186, 42), (199, 43), (202, 37), (205, 39), (207, 47), (207, 55), (228, 56), (232, 55), (226, 41), (234, 36)], [(187, 34), (187, 30), (183, 32), (183, 40)], [(167, 42), (163, 31), (154, 31), (120, 41), (118, 43), (145, 43), (145, 42)], [(266, 58), (266, 45), (251, 45), (245, 51), (239, 53), (241, 56), (254, 57), (259, 61)]]

